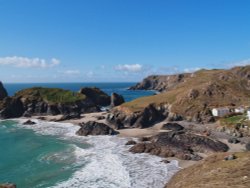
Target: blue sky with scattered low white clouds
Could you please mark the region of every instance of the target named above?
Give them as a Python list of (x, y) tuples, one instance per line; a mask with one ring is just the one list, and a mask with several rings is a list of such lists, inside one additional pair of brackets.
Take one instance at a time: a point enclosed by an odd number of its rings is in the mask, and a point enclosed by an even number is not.
[(249, 0), (0, 0), (0, 80), (137, 82), (250, 64)]

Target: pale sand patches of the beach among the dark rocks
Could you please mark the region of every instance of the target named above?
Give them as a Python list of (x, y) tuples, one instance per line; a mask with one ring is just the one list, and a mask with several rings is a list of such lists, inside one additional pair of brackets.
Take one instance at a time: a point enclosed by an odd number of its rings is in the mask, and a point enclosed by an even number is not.
[[(98, 120), (98, 117), (106, 117), (107, 112), (95, 112), (95, 113), (88, 113), (88, 114), (82, 114), (80, 118), (78, 119), (70, 119), (70, 120), (63, 120), (63, 121), (58, 121), (62, 115), (46, 115), (46, 116), (32, 116), (30, 118), (21, 118), (21, 119), (37, 119), (40, 121), (48, 121), (48, 122), (57, 122), (57, 123), (71, 123), (73, 125), (79, 126), (80, 123), (82, 122), (88, 122), (88, 121), (96, 121), (100, 123), (105, 123), (107, 125), (110, 125), (108, 122), (106, 122), (105, 119)], [(42, 117), (42, 119), (41, 119)], [(134, 139), (139, 139), (142, 137), (150, 137), (157, 135), (160, 132), (166, 132), (165, 130), (161, 130), (161, 126), (166, 123), (167, 121), (162, 121), (160, 123), (155, 124), (152, 127), (149, 128), (144, 128), (144, 129), (139, 129), (139, 128), (127, 128), (127, 129), (120, 129), (116, 130), (119, 132), (117, 137), (123, 137), (123, 138), (129, 138), (131, 140)], [(185, 128), (188, 127), (188, 124), (194, 124), (194, 123), (189, 123), (189, 122), (180, 122), (182, 125), (184, 125)], [(216, 126), (216, 124), (209, 125), (211, 127)], [(201, 131), (203, 129), (207, 129), (208, 125), (202, 125), (202, 124), (195, 124), (195, 128), (193, 128), (195, 131)], [(225, 136), (225, 134), (224, 134)], [(230, 144), (228, 143), (227, 139), (225, 138), (217, 138), (219, 141), (225, 143), (228, 145), (229, 150), (227, 152), (241, 152), (244, 150), (244, 145), (243, 144)], [(203, 159), (206, 159), (208, 156), (211, 155), (211, 153), (202, 153)], [(178, 166), (181, 169), (190, 167), (194, 164), (197, 164), (199, 161), (191, 161), (191, 160), (181, 160), (175, 157), (170, 157), (170, 158), (164, 158), (162, 159), (166, 160), (177, 160), (178, 161)]]

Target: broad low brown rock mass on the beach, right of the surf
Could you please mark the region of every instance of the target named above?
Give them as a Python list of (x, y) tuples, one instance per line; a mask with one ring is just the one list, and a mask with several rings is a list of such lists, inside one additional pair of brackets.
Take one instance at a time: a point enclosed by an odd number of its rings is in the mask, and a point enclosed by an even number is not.
[(161, 157), (177, 157), (183, 160), (200, 160), (197, 153), (225, 152), (226, 144), (205, 136), (185, 131), (160, 133), (150, 138), (150, 142), (138, 143), (130, 151), (133, 153), (150, 153)]

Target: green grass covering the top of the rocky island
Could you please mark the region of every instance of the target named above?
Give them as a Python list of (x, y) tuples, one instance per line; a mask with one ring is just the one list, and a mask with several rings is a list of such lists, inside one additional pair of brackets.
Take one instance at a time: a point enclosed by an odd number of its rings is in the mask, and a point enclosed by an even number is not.
[(29, 88), (19, 91), (15, 96), (21, 96), (22, 98), (28, 98), (29, 100), (44, 100), (50, 104), (74, 103), (86, 98), (85, 95), (74, 93), (70, 90), (41, 87)]

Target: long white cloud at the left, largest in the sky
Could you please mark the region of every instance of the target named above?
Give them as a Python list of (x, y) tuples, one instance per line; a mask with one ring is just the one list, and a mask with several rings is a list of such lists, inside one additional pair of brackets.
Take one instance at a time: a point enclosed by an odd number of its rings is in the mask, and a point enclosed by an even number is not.
[(28, 58), (28, 57), (0, 57), (0, 65), (20, 67), (20, 68), (50, 68), (60, 64), (56, 58), (46, 61), (41, 58)]

